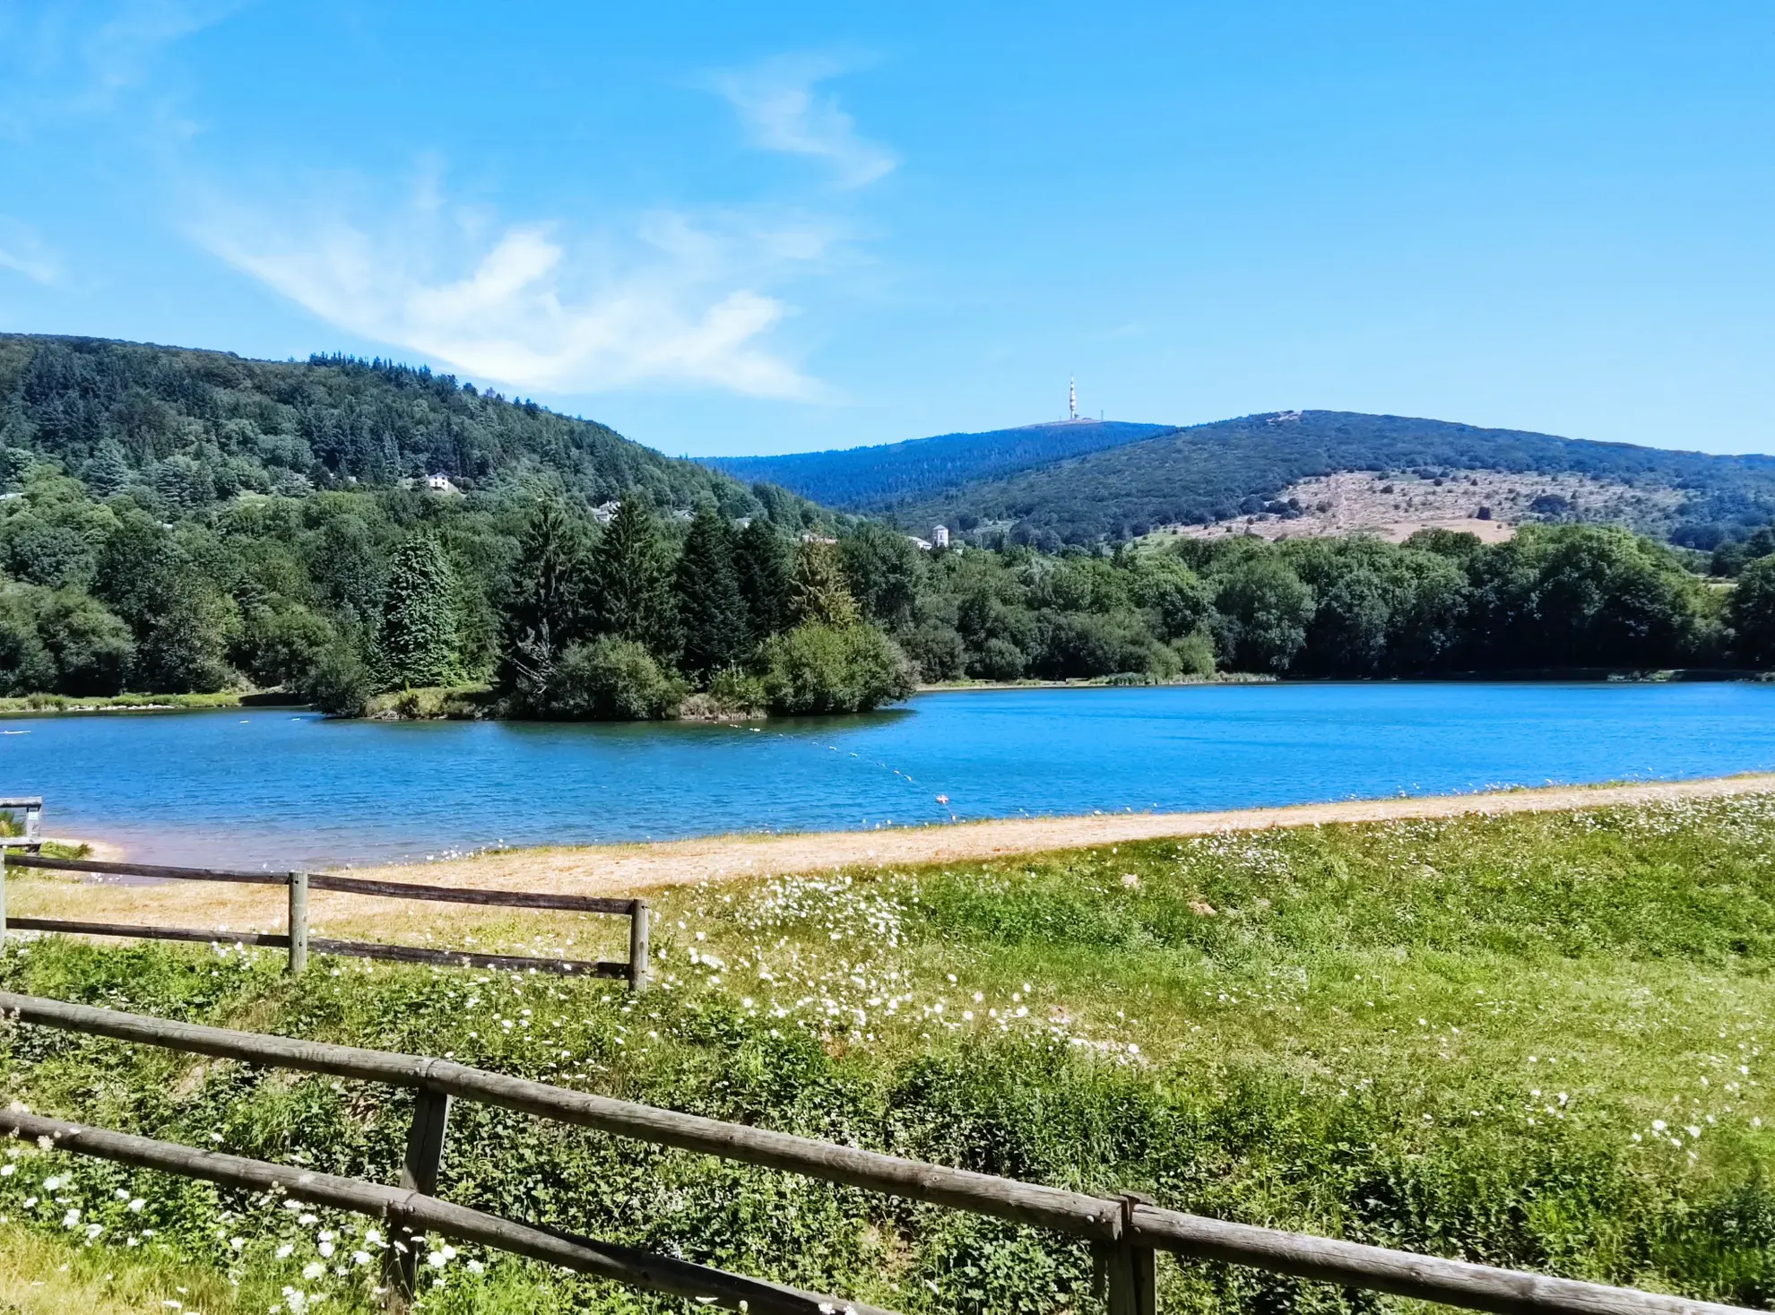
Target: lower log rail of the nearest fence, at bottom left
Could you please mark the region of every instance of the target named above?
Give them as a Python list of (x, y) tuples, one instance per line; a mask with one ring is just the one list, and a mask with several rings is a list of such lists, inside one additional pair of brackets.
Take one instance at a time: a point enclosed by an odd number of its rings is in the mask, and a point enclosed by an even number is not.
[(153, 1141), (39, 1114), (0, 1114), (0, 1132), (25, 1141), (48, 1139), (59, 1150), (78, 1155), (162, 1169), (225, 1187), (261, 1193), (284, 1191), (311, 1205), (328, 1205), (383, 1219), (390, 1224), (390, 1233), (394, 1228), (405, 1228), (408, 1233), (437, 1232), (462, 1242), (479, 1242), (582, 1274), (596, 1274), (651, 1292), (669, 1292), (698, 1303), (715, 1303), (730, 1310), (765, 1311), (767, 1315), (838, 1315), (840, 1311), (891, 1315), (877, 1306), (801, 1292), (689, 1260), (534, 1228), (495, 1214), (451, 1205), (412, 1189), (383, 1187), (288, 1164), (222, 1155), (174, 1141)]

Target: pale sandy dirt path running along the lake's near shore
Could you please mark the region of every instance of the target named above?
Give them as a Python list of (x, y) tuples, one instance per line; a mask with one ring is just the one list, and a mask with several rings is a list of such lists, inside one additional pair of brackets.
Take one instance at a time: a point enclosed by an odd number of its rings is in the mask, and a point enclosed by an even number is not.
[[(1205, 836), (1271, 827), (1395, 818), (1500, 816), (1668, 799), (1775, 793), (1775, 774), (1621, 786), (1555, 786), (1491, 795), (1369, 799), (1227, 813), (1111, 813), (1070, 818), (1014, 818), (903, 831), (832, 831), (801, 836), (714, 836), (653, 845), (509, 850), (444, 862), (359, 868), (353, 875), (481, 889), (634, 894), (733, 877), (765, 877), (850, 866), (966, 862), (1008, 854), (1116, 845), (1166, 836)], [(44, 917), (105, 917), (179, 926), (279, 930), (282, 893), (254, 886), (108, 886), (21, 882), (14, 909)], [(504, 914), (437, 903), (314, 896), (318, 930), (369, 932), (378, 939), (437, 930), (444, 923), (488, 921)], [(101, 912), (103, 910), (103, 912)]]

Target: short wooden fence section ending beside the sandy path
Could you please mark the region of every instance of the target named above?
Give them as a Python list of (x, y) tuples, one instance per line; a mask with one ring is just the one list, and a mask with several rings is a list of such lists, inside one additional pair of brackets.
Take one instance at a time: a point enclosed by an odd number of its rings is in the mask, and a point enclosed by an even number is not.
[[(50, 871), (85, 871), (108, 877), (146, 877), (170, 882), (233, 882), (243, 886), (284, 886), (289, 891), (289, 917), (284, 932), (227, 932), (199, 926), (140, 926), (130, 923), (82, 923), (66, 917), (12, 917), (5, 912), (5, 870), (46, 868)], [(382, 941), (330, 941), (309, 935), (309, 891), (373, 894), (390, 900), (438, 900), (502, 909), (556, 909), (577, 914), (619, 914), (628, 919), (628, 962), (588, 962), (543, 958), (538, 955), (485, 955), (472, 949), (431, 949), (396, 946)], [(472, 891), (456, 886), (421, 886), (415, 882), (373, 882), (364, 877), (334, 877), (307, 871), (225, 871), (218, 868), (162, 868), (147, 862), (99, 862), (96, 859), (50, 859), (36, 854), (7, 854), (0, 848), (0, 939), (7, 926), (20, 932), (64, 932), (69, 935), (117, 935), (147, 941), (197, 941), (202, 944), (275, 946), (289, 951), (289, 971), (304, 972), (309, 951), (350, 955), (353, 958), (390, 958), (403, 964), (451, 964), (538, 972), (566, 972), (589, 978), (621, 978), (630, 990), (648, 985), (648, 903), (646, 900), (600, 900), (589, 894), (543, 894), (532, 891)]]

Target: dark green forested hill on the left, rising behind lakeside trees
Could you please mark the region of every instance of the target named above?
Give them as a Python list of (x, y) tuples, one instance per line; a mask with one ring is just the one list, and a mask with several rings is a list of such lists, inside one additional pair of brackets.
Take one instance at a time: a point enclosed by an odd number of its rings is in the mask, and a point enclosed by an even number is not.
[(387, 488), (433, 474), (472, 492), (540, 472), (591, 502), (643, 488), (662, 508), (714, 497), (730, 515), (758, 509), (722, 474), (428, 369), (0, 334), (0, 477), (34, 456), (59, 460), (101, 497), (151, 490), (169, 513), (243, 492)]

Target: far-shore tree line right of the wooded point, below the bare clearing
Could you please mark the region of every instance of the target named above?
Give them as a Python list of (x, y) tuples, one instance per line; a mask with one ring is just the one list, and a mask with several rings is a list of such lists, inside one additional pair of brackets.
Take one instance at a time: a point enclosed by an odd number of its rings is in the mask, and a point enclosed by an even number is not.
[(1532, 525), (1498, 545), (1448, 531), (1399, 547), (1219, 536), (1166, 550), (967, 550), (928, 561), (889, 541), (864, 527), (841, 547), (868, 616), (927, 680), (1775, 660), (1775, 557), (1725, 591), (1670, 548), (1610, 527)]

